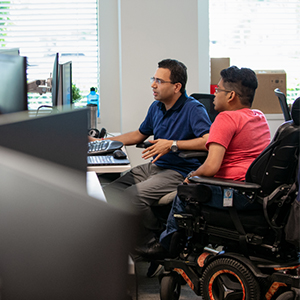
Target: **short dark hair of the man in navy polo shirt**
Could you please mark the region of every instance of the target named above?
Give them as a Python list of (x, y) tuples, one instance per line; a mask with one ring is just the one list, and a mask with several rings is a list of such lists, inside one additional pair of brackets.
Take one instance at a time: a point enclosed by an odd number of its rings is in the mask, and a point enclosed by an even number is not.
[(187, 82), (186, 66), (176, 59), (164, 59), (158, 63), (158, 67), (170, 70), (170, 80), (172, 83), (181, 83), (182, 87), (180, 92), (183, 94), (185, 92), (185, 86)]

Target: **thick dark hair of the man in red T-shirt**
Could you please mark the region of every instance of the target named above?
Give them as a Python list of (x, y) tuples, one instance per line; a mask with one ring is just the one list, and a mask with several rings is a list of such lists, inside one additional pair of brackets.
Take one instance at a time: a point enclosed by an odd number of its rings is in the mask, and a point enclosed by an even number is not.
[(255, 72), (248, 68), (231, 66), (220, 74), (224, 87), (235, 91), (240, 96), (241, 103), (251, 107), (258, 86)]

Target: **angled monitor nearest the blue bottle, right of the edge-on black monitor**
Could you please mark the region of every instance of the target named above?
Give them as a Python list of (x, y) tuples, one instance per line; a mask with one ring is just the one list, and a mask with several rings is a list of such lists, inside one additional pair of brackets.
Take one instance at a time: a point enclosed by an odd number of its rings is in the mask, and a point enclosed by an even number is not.
[(59, 65), (58, 106), (72, 106), (72, 62)]

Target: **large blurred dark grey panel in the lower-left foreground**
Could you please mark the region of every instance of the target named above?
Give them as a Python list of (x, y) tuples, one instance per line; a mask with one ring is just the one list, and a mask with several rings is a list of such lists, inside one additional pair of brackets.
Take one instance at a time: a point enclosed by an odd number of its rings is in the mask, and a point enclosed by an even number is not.
[(0, 177), (1, 300), (128, 299), (134, 214), (87, 196), (78, 172), (4, 147)]

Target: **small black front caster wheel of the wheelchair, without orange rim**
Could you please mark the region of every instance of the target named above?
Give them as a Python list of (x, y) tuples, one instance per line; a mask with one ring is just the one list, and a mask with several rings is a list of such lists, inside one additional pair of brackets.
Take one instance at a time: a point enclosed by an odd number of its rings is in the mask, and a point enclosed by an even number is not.
[(181, 292), (181, 281), (177, 272), (165, 275), (160, 282), (161, 300), (178, 300)]

